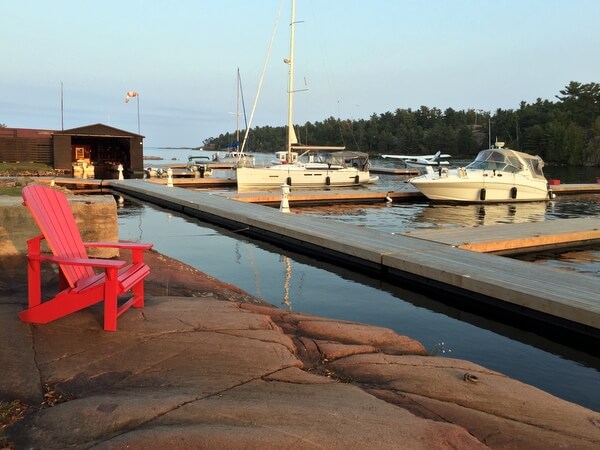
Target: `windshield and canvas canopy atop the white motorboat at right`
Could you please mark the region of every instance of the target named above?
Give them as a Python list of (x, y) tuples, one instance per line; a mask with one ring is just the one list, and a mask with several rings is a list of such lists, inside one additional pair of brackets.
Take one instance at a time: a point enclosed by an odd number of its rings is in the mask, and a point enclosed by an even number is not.
[(510, 149), (490, 148), (482, 150), (466, 168), (517, 173), (525, 170), (525, 167), (529, 169), (534, 177), (544, 178), (544, 172), (542, 171), (544, 161), (542, 161), (542, 158)]

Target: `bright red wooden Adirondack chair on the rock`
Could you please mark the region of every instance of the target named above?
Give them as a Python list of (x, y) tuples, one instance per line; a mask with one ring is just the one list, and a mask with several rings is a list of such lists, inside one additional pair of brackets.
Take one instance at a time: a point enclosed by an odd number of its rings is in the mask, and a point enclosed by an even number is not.
[[(104, 329), (115, 331), (117, 317), (131, 306), (144, 306), (144, 278), (150, 268), (143, 262), (143, 251), (152, 244), (85, 243), (62, 192), (32, 184), (23, 188), (23, 199), (42, 234), (27, 241), (29, 307), (19, 314), (21, 320), (48, 323), (104, 300)], [(52, 254), (41, 252), (43, 240)], [(89, 258), (86, 248), (91, 247), (131, 250), (131, 264)], [(44, 261), (58, 264), (60, 292), (42, 301), (41, 263)], [(126, 301), (119, 299), (130, 291), (132, 295)]]

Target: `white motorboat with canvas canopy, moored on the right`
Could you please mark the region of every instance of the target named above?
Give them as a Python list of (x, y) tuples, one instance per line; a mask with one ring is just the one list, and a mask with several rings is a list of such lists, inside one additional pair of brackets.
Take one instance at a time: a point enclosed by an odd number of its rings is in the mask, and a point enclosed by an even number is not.
[(526, 202), (553, 198), (539, 156), (504, 148), (496, 142), (466, 167), (440, 167), (410, 179), (430, 200), (446, 202)]

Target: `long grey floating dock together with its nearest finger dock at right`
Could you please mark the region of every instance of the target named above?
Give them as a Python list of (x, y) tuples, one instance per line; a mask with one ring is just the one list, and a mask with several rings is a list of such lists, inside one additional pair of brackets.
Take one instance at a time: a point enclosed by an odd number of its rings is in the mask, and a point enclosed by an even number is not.
[[(320, 248), (324, 255), (331, 252), (346, 255), (354, 261), (364, 261), (365, 267), (376, 265), (382, 271), (399, 270), (600, 330), (600, 279), (597, 277), (459, 248), (467, 239), (469, 243), (521, 239), (524, 245), (527, 239), (547, 239), (561, 234), (561, 242), (566, 243), (569, 239), (579, 239), (581, 233), (596, 236), (600, 229), (597, 218), (413, 232), (410, 236), (401, 236), (139, 180), (110, 184), (116, 190), (186, 213), (195, 211), (227, 219), (240, 228), (260, 230), (270, 240), (310, 245), (313, 250)], [(561, 224), (563, 220), (568, 222)]]

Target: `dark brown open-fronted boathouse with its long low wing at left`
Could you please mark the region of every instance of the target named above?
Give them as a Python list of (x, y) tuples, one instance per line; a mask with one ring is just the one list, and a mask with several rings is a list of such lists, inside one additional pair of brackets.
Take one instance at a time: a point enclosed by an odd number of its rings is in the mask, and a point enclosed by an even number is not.
[(144, 171), (144, 136), (101, 123), (69, 130), (0, 128), (0, 161), (40, 162), (64, 172), (85, 161), (96, 178), (112, 178), (119, 164), (129, 176)]

